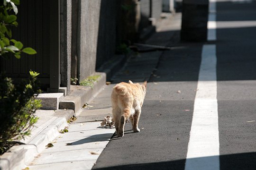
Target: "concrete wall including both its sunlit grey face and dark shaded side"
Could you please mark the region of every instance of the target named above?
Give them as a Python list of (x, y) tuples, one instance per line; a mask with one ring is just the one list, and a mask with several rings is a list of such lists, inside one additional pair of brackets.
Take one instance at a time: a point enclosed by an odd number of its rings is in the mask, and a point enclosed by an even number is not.
[(119, 0), (78, 0), (78, 3), (77, 76), (82, 81), (115, 55), (120, 3)]

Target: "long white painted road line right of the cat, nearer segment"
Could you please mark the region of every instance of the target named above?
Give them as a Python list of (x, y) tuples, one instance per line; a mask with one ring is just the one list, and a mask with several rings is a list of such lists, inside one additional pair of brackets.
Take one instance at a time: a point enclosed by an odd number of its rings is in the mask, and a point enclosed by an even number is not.
[(216, 45), (204, 45), (185, 170), (219, 170)]

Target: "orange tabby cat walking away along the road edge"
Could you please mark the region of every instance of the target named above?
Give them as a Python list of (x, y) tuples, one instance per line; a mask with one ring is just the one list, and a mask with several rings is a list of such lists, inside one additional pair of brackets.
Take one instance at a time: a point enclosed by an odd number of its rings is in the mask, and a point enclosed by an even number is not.
[(139, 132), (138, 120), (146, 94), (146, 81), (140, 84), (117, 84), (111, 94), (112, 114), (117, 136), (124, 136), (125, 121), (130, 119), (134, 132)]

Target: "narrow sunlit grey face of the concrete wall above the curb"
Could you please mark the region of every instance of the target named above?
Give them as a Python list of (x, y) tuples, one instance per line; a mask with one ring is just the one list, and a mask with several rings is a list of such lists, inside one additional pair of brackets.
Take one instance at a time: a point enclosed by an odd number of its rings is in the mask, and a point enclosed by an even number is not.
[(101, 0), (78, 0), (77, 78), (84, 80), (95, 72)]

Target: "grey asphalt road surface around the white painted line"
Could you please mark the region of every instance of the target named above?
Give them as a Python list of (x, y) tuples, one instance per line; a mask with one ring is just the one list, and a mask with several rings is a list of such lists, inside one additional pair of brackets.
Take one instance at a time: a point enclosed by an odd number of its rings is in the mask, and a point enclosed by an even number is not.
[[(256, 1), (219, 0), (217, 28), (209, 43), (217, 55), (219, 169), (256, 170)], [(184, 170), (203, 44), (169, 45), (180, 48), (164, 51), (149, 79), (141, 131), (126, 124), (93, 169)]]

